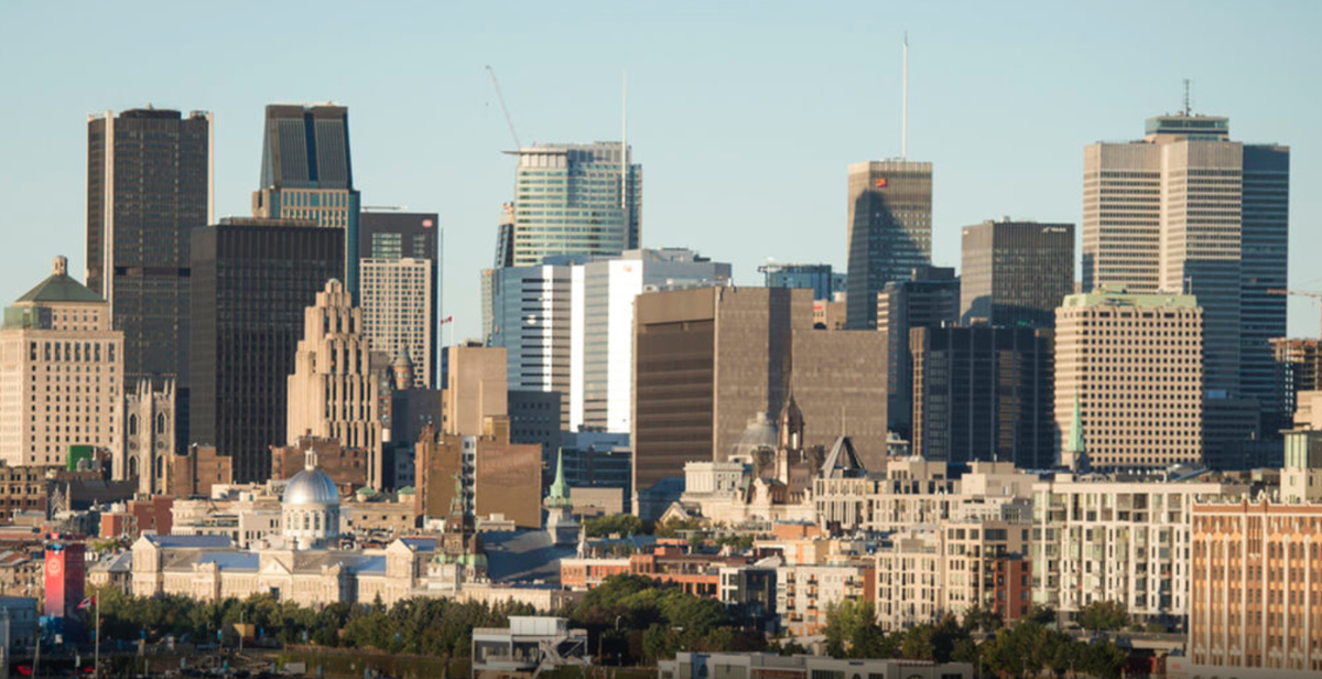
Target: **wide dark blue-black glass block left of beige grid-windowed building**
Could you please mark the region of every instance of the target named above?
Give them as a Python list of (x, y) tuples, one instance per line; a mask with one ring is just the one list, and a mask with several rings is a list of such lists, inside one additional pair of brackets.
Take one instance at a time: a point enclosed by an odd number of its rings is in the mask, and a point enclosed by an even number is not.
[(914, 453), (952, 465), (1055, 463), (1052, 332), (914, 328)]

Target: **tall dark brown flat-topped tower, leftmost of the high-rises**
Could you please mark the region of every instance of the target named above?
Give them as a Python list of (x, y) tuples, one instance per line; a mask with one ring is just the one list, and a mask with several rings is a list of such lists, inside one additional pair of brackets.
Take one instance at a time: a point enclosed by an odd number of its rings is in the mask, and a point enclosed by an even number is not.
[[(212, 114), (135, 109), (87, 119), (87, 287), (124, 334), (124, 375), (173, 377), (186, 422), (189, 230), (212, 221)], [(176, 428), (178, 450), (188, 428)]]

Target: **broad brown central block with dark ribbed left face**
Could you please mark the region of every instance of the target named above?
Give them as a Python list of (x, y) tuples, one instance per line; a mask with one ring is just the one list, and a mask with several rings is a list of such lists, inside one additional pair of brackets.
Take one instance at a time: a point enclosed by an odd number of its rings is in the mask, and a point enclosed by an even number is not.
[(813, 327), (806, 289), (707, 287), (639, 295), (633, 316), (633, 488), (723, 461), (788, 385), (791, 334)]

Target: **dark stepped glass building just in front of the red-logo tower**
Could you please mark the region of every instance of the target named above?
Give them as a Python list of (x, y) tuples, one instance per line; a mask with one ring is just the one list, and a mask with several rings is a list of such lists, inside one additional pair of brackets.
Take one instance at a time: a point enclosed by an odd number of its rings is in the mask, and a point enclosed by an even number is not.
[(914, 357), (910, 330), (953, 326), (960, 320), (960, 279), (954, 269), (923, 266), (908, 281), (888, 283), (876, 295), (876, 330), (886, 335), (888, 428), (911, 435)]

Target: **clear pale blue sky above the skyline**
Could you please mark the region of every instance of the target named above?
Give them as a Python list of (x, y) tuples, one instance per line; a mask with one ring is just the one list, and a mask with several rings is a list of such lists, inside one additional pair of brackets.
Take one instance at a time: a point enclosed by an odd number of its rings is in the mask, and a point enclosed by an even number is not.
[[(479, 332), (479, 270), (510, 199), (513, 146), (620, 135), (644, 165), (642, 240), (756, 285), (767, 258), (845, 265), (845, 169), (936, 164), (935, 261), (960, 226), (1080, 220), (1083, 147), (1181, 106), (1293, 150), (1290, 281), (1322, 289), (1322, 3), (3, 3), (0, 302), (66, 254), (85, 270), (86, 115), (215, 114), (217, 213), (250, 213), (262, 111), (349, 106), (366, 205), (440, 213), (444, 303)], [(1292, 335), (1318, 307), (1290, 303)]]

